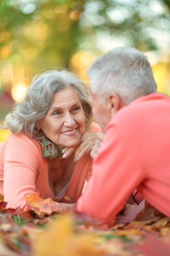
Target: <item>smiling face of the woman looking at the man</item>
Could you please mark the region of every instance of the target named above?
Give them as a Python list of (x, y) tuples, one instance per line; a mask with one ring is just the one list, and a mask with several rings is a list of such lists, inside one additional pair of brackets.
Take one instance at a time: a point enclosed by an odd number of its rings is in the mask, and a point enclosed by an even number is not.
[(85, 115), (77, 92), (71, 87), (55, 92), (49, 111), (37, 128), (62, 148), (77, 146), (85, 130)]

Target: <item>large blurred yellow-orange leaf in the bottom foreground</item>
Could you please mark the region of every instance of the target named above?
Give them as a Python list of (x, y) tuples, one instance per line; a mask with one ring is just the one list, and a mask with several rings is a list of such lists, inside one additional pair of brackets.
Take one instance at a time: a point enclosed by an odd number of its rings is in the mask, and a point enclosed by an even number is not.
[(33, 241), (33, 256), (104, 256), (95, 236), (73, 233), (73, 218), (61, 216)]

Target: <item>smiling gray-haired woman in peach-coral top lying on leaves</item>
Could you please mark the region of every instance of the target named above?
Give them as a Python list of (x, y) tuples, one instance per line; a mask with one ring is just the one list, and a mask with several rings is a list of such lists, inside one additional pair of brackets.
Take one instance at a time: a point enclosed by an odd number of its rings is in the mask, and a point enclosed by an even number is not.
[(77, 201), (92, 158), (87, 153), (76, 162), (75, 150), (66, 157), (63, 148), (76, 148), (84, 131), (100, 131), (92, 120), (88, 89), (72, 73), (54, 70), (33, 78), (4, 121), (11, 130), (0, 150), (0, 193), (7, 207), (22, 207), (24, 195), (36, 191), (55, 202)]

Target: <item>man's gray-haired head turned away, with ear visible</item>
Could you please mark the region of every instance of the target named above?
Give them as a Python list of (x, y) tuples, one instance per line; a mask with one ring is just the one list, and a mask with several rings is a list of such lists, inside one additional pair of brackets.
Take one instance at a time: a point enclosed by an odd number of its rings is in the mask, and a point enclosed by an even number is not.
[(157, 91), (146, 56), (130, 47), (117, 47), (98, 57), (87, 75), (93, 115), (103, 131), (117, 110)]

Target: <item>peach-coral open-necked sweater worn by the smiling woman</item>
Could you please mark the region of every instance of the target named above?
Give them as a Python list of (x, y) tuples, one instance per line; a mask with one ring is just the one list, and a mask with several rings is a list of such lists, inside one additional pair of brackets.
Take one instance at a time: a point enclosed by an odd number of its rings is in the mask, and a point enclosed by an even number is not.
[[(90, 131), (101, 129), (93, 123)], [(63, 197), (77, 201), (85, 180), (91, 176), (91, 167), (92, 158), (88, 153), (75, 164)], [(17, 208), (24, 205), (24, 195), (38, 190), (41, 198), (58, 201), (49, 187), (47, 159), (42, 156), (38, 140), (11, 133), (0, 149), (0, 193), (8, 202), (7, 207)]]

